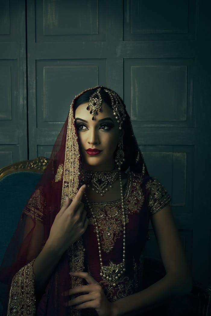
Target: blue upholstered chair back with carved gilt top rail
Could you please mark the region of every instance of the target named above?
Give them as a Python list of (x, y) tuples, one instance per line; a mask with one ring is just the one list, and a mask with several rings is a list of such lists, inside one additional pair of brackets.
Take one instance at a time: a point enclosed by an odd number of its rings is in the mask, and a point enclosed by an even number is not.
[[(45, 170), (48, 159), (39, 157), (0, 169), (0, 264), (15, 232), (21, 212)], [(0, 315), (2, 311), (0, 304)]]

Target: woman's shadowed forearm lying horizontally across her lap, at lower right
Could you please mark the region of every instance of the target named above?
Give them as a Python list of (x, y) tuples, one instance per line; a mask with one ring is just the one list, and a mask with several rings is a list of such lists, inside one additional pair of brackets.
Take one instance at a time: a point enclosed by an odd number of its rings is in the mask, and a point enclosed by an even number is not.
[(148, 288), (112, 303), (113, 315), (136, 315), (173, 295), (185, 295), (192, 289), (190, 276), (166, 274)]

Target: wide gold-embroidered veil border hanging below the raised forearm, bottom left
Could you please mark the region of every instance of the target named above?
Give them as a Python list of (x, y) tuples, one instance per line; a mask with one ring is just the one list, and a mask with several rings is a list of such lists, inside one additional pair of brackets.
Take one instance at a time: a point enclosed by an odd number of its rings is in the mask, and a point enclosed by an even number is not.
[(34, 316), (34, 260), (20, 269), (12, 279), (7, 316)]

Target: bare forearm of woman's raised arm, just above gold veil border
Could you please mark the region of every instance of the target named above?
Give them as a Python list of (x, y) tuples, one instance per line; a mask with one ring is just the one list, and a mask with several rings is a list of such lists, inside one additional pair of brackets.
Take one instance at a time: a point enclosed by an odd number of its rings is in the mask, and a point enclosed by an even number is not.
[(62, 254), (63, 251), (54, 249), (53, 245), (48, 241), (46, 242), (33, 264), (36, 292), (43, 290), (46, 287), (49, 277), (53, 273)]

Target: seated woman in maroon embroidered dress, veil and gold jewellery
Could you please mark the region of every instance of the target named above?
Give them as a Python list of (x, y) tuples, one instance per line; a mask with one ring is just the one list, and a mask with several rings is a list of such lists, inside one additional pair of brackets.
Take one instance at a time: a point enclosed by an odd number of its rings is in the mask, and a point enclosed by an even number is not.
[[(103, 86), (78, 94), (5, 255), (4, 313), (132, 315), (188, 293), (170, 200), (147, 172), (121, 98)], [(149, 218), (166, 276), (141, 290)]]

